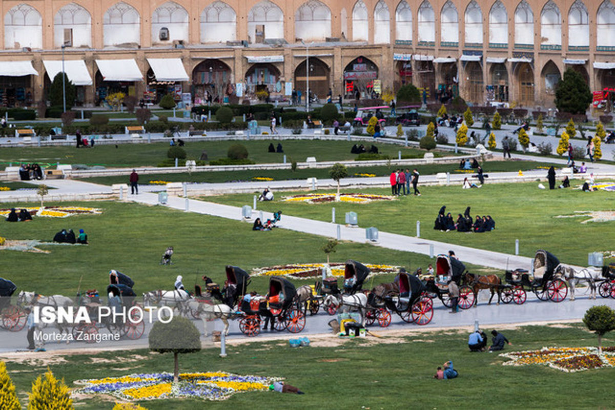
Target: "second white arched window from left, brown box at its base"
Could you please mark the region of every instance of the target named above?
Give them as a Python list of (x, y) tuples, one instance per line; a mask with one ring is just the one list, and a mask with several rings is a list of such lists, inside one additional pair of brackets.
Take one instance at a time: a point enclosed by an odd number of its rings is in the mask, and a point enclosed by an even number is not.
[(79, 4), (68, 3), (54, 17), (54, 47), (92, 46), (92, 17)]

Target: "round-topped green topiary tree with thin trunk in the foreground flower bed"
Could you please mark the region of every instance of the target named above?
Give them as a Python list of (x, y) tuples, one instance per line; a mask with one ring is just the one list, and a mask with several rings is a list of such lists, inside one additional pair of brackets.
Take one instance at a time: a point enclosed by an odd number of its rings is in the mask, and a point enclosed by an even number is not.
[(199, 330), (185, 317), (175, 316), (169, 323), (157, 321), (149, 332), (149, 349), (158, 353), (173, 353), (173, 382), (179, 380), (180, 353), (200, 350)]

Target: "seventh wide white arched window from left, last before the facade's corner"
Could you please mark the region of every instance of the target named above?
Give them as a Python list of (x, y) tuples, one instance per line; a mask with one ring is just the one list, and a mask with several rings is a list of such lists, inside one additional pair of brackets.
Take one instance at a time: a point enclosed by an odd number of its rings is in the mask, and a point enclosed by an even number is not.
[(318, 0), (309, 0), (295, 13), (295, 37), (320, 40), (331, 37), (331, 10)]

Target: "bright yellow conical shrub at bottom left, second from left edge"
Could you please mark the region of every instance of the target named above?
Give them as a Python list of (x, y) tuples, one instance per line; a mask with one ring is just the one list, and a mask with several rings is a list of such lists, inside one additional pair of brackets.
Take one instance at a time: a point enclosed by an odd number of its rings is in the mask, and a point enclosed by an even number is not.
[(47, 369), (45, 376), (37, 377), (32, 384), (28, 410), (51, 409), (73, 410), (74, 407), (71, 392), (64, 383), (64, 379), (56, 379), (51, 370)]

